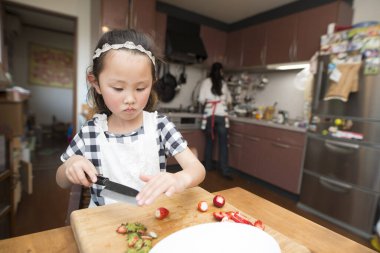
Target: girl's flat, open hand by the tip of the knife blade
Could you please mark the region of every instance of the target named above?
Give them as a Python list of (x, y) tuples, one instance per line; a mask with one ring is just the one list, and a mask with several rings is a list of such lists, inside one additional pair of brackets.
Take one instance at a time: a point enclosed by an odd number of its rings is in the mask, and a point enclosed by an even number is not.
[(191, 177), (184, 171), (175, 174), (160, 172), (156, 175), (140, 175), (140, 179), (146, 182), (140, 193), (136, 196), (137, 204), (149, 205), (165, 193), (170, 197), (176, 192), (185, 190), (191, 182)]

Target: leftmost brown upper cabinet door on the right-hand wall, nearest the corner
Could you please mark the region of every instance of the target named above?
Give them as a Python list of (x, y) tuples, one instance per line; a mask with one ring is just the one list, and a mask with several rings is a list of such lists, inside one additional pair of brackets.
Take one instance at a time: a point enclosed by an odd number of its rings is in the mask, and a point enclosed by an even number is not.
[(237, 68), (242, 66), (243, 59), (243, 32), (242, 30), (229, 32), (227, 34), (226, 46), (226, 66), (228, 68)]

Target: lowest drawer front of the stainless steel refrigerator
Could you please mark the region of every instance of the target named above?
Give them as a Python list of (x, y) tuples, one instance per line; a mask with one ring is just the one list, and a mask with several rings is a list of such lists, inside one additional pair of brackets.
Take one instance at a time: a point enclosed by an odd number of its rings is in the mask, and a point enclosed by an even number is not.
[(372, 233), (377, 194), (305, 171), (300, 202), (359, 230)]

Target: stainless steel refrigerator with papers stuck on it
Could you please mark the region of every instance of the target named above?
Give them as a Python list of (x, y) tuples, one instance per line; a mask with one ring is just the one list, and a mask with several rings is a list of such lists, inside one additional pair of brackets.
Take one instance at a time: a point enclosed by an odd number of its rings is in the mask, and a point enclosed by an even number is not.
[(379, 218), (380, 75), (366, 73), (365, 50), (356, 53), (358, 89), (346, 102), (327, 98), (337, 84), (331, 80), (334, 53), (319, 57), (298, 206), (369, 238)]

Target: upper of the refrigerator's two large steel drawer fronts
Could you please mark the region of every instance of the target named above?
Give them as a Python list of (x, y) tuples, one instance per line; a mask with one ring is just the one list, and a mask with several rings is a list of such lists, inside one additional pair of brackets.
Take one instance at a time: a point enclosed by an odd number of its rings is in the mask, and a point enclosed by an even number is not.
[(380, 149), (308, 135), (304, 169), (380, 192)]

